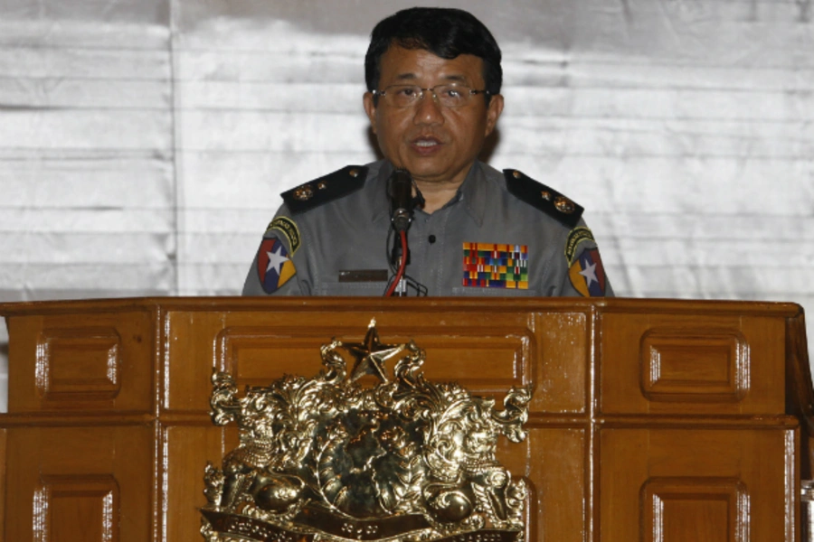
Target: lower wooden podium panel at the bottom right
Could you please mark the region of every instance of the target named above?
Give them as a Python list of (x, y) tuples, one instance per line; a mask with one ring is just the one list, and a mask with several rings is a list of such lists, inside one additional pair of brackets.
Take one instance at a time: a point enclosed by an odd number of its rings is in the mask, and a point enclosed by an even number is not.
[(784, 428), (602, 429), (601, 540), (793, 540), (794, 440)]

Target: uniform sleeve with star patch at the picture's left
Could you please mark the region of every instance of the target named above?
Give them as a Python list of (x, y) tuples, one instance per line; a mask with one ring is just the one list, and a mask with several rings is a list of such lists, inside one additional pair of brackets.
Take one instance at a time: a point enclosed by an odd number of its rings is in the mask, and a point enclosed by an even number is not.
[(271, 220), (251, 262), (243, 295), (308, 295), (299, 229), (285, 206)]

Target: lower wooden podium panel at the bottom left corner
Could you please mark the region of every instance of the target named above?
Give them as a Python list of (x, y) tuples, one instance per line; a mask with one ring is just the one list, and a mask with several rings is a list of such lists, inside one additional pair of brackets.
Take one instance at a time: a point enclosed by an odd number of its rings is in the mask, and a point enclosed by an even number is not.
[(6, 540), (144, 542), (151, 537), (152, 429), (8, 430)]

